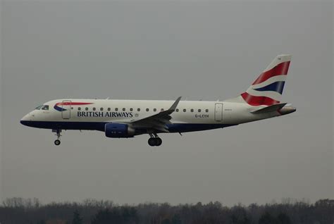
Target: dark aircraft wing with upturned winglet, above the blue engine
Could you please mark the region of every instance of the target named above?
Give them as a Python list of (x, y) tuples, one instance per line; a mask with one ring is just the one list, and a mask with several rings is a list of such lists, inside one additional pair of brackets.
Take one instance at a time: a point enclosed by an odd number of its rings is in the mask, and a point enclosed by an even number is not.
[(140, 120), (135, 120), (131, 122), (132, 127), (147, 129), (154, 132), (154, 130), (158, 132), (169, 132), (167, 124), (171, 124), (171, 113), (175, 111), (176, 106), (180, 102), (181, 97), (175, 100), (174, 104), (166, 111), (161, 111), (160, 113), (156, 113), (153, 116), (149, 116), (147, 118), (142, 118)]

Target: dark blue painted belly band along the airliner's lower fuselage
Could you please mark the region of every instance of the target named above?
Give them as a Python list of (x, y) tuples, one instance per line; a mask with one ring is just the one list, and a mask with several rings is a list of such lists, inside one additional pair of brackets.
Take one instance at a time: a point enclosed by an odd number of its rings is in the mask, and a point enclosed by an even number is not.
[[(47, 128), (47, 129), (62, 129), (62, 130), (99, 130), (104, 132), (105, 122), (70, 122), (70, 121), (32, 121), (21, 120), (21, 124), (29, 127)], [(216, 128), (229, 127), (234, 125), (223, 124), (188, 124), (188, 123), (173, 123), (168, 124), (170, 132), (194, 132), (200, 130), (211, 130)]]

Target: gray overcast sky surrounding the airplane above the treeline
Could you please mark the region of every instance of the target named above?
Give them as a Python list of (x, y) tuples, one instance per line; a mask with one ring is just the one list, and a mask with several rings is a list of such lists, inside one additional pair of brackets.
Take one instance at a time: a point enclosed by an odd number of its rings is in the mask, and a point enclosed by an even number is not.
[[(60, 98), (228, 99), (292, 54), (297, 112), (108, 139), (20, 125)], [(333, 1), (1, 1), (0, 197), (43, 202), (333, 199)]]

